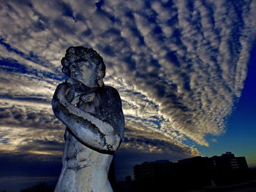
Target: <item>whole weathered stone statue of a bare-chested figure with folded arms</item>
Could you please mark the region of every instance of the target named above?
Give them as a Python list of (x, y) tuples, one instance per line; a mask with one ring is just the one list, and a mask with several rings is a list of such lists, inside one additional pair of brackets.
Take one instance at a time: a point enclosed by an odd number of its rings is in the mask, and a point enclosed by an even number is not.
[(55, 192), (110, 192), (108, 170), (124, 135), (120, 96), (104, 85), (105, 64), (95, 50), (69, 47), (61, 64), (68, 78), (52, 106), (67, 129)]

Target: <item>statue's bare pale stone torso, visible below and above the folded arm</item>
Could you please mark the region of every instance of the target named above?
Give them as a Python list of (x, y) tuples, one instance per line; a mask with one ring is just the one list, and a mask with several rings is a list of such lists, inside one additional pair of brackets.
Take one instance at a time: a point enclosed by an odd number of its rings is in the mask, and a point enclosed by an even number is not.
[[(99, 94), (90, 104), (80, 104), (80, 110), (101, 116)], [(112, 191), (108, 182), (108, 169), (113, 155), (99, 153), (81, 144), (66, 130), (62, 171), (58, 184), (69, 192)]]

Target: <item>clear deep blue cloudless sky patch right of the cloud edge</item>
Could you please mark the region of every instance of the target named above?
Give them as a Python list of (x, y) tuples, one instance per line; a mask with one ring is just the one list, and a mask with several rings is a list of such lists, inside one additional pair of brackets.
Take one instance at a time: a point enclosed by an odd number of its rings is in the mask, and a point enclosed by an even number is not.
[(249, 64), (249, 71), (236, 104), (236, 109), (227, 120), (227, 131), (210, 147), (198, 146), (201, 155), (221, 155), (224, 151), (232, 151), (236, 155), (246, 156), (249, 166), (256, 166), (256, 47), (253, 48)]

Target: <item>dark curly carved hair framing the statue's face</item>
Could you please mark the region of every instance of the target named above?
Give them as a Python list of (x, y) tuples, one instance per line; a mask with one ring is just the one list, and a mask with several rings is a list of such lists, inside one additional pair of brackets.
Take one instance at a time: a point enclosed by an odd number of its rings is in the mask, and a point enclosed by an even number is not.
[(66, 50), (66, 55), (61, 59), (61, 65), (63, 66), (61, 71), (70, 77), (70, 64), (74, 64), (80, 61), (90, 61), (98, 66), (98, 83), (103, 83), (102, 79), (105, 77), (106, 66), (103, 62), (103, 58), (95, 50), (87, 47), (69, 47)]

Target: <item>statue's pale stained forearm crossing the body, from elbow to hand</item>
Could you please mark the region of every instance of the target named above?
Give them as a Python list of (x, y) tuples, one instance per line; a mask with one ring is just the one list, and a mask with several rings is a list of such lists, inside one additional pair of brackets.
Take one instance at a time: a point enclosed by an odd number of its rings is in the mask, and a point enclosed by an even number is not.
[(67, 90), (67, 83), (61, 83), (53, 95), (52, 106), (56, 117), (84, 145), (105, 153), (116, 151), (123, 137), (124, 128), (114, 126), (124, 126), (124, 123), (109, 123), (108, 120), (80, 110), (67, 99)]

